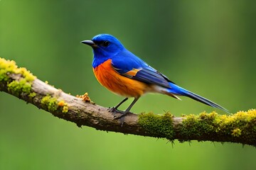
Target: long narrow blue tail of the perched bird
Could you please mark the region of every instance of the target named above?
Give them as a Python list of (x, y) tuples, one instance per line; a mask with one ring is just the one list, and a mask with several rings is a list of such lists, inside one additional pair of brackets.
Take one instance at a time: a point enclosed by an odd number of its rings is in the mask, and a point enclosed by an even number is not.
[(187, 91), (186, 89), (183, 89), (180, 86), (177, 86), (176, 84), (173, 84), (171, 82), (169, 84), (170, 84), (171, 88), (168, 89), (167, 91), (171, 94), (174, 94), (177, 96), (187, 96), (189, 98), (193, 98), (196, 101), (204, 103), (208, 106), (212, 106), (213, 108), (219, 108), (220, 110), (223, 110), (223, 111), (229, 113), (229, 111), (227, 109), (223, 108), (222, 106), (218, 105), (217, 103), (214, 103), (213, 101), (208, 100), (207, 98), (199, 96), (198, 94), (194, 94), (191, 91)]

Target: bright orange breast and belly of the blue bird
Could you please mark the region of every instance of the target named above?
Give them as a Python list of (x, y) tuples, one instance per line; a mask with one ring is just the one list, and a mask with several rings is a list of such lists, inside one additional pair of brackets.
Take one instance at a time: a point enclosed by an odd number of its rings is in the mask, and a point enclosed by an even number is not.
[(110, 91), (120, 96), (139, 97), (148, 91), (148, 85), (141, 81), (123, 77), (117, 73), (111, 64), (111, 60), (100, 64), (93, 69), (97, 81)]

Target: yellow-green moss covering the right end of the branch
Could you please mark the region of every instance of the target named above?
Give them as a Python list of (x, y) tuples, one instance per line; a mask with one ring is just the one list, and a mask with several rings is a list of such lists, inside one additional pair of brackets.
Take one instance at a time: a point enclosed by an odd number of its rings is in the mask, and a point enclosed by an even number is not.
[(217, 113), (201, 113), (187, 115), (180, 130), (181, 141), (233, 139), (239, 142), (256, 140), (256, 111), (238, 112), (234, 115), (218, 115)]

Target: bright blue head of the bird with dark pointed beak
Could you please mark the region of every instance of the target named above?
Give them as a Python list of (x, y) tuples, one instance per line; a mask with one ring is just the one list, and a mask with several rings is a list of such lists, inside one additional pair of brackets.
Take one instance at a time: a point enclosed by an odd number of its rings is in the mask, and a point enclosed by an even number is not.
[(92, 47), (95, 57), (113, 57), (124, 50), (122, 43), (109, 34), (99, 34), (92, 40), (83, 40), (82, 43)]

